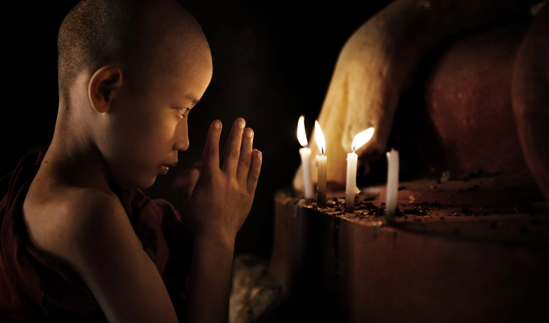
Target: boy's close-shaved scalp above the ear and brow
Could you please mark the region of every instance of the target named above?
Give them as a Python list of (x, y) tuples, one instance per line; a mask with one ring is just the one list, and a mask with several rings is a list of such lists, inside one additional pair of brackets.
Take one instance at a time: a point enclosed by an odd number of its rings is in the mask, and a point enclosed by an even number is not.
[(154, 73), (170, 73), (185, 52), (209, 51), (200, 25), (171, 0), (83, 0), (61, 23), (58, 34), (60, 99), (68, 99), (77, 75), (117, 65), (132, 85)]

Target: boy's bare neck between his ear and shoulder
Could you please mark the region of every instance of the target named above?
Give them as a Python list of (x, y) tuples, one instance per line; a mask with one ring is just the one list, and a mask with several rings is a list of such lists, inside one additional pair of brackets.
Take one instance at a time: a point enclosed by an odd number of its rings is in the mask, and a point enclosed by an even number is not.
[[(44, 156), (56, 179), (68, 185), (108, 190), (111, 176), (83, 120), (60, 101), (52, 143)], [(82, 119), (82, 118), (80, 118)], [(44, 162), (42, 162), (44, 163)]]

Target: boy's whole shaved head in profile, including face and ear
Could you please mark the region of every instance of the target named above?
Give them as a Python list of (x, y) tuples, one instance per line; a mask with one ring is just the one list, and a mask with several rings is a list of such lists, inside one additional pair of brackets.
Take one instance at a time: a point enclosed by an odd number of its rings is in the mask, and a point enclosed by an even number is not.
[(152, 185), (189, 146), (188, 115), (211, 81), (200, 25), (174, 0), (83, 0), (58, 49), (53, 142), (98, 151), (120, 183)]

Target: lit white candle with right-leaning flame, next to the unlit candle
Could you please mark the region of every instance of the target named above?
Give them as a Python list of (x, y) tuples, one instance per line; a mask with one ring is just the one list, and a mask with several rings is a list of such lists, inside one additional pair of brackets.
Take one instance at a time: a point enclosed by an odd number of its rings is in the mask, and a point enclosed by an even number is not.
[(352, 140), (352, 152), (347, 154), (347, 181), (345, 185), (345, 212), (352, 213), (355, 211), (355, 196), (360, 193), (356, 187), (356, 166), (358, 155), (355, 151), (367, 143), (374, 135), (374, 129), (368, 128), (365, 131), (358, 133)]

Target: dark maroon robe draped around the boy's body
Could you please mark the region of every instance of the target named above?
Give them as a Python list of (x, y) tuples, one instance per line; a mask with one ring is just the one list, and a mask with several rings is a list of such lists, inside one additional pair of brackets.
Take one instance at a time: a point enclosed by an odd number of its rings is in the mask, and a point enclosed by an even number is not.
[[(47, 147), (32, 149), (10, 174), (0, 179), (0, 321), (106, 321), (79, 275), (62, 261), (35, 248), (23, 220), (23, 201)], [(113, 186), (143, 249), (162, 275), (178, 316), (191, 256), (187, 227), (164, 200), (138, 189)]]

